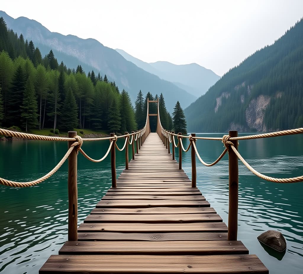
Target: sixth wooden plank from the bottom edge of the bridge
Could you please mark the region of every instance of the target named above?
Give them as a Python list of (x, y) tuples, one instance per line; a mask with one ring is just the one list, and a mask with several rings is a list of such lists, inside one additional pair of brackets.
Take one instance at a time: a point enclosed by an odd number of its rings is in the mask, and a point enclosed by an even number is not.
[(205, 214), (216, 213), (212, 207), (149, 207), (149, 208), (94, 208), (91, 214)]

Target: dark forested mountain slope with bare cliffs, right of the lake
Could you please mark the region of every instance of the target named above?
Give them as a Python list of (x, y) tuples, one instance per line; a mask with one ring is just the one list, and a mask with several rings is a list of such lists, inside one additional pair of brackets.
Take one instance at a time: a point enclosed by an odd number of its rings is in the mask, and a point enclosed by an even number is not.
[(188, 132), (303, 127), (303, 21), (246, 58), (185, 109)]

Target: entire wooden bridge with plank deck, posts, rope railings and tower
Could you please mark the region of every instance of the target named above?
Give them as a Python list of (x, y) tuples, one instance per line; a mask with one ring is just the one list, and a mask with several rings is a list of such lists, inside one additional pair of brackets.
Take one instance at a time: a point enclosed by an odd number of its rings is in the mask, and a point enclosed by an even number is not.
[[(237, 240), (238, 159), (258, 177), (276, 183), (303, 181), (272, 178), (252, 168), (238, 152), (238, 140), (301, 134), (303, 128), (238, 137), (236, 131), (221, 138), (175, 134), (163, 129), (158, 113), (149, 113), (145, 127), (117, 137), (82, 139), (77, 132), (68, 138), (50, 137), (0, 129), (0, 135), (46, 141), (68, 141), (68, 151), (48, 174), (30, 182), (0, 178), (0, 184), (29, 187), (52, 176), (68, 159), (68, 241), (58, 255), (52, 255), (39, 273), (268, 273), (256, 255)], [(157, 116), (157, 132), (151, 133), (149, 116)], [(175, 142), (178, 138), (178, 144)], [(116, 144), (125, 138), (123, 148)], [(190, 144), (184, 148), (182, 138)], [(131, 141), (130, 141), (131, 139)], [(198, 153), (198, 139), (222, 141), (225, 149), (211, 164)], [(109, 140), (106, 154), (99, 160), (81, 148), (84, 141)], [(136, 146), (135, 146), (136, 142)], [(172, 151), (170, 151), (170, 143)], [(132, 160), (128, 161), (128, 144)], [(136, 148), (136, 153), (135, 153)], [(175, 148), (179, 149), (178, 162)], [(191, 148), (191, 180), (182, 170), (182, 151)], [(117, 179), (115, 150), (125, 150), (125, 170)], [(111, 154), (112, 187), (78, 227), (77, 155), (93, 162)], [(205, 166), (218, 163), (228, 152), (229, 210), (228, 226), (196, 187), (196, 158)]]

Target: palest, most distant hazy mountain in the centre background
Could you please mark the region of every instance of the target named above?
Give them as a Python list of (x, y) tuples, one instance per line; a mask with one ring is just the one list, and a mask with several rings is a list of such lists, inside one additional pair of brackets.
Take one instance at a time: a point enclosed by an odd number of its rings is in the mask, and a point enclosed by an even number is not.
[(116, 49), (116, 51), (137, 67), (141, 67), (143, 70), (155, 74), (161, 79), (170, 81), (197, 97), (204, 94), (210, 86), (220, 79), (220, 76), (212, 70), (208, 70), (195, 63), (187, 65), (175, 65), (165, 61), (146, 63), (121, 49)]

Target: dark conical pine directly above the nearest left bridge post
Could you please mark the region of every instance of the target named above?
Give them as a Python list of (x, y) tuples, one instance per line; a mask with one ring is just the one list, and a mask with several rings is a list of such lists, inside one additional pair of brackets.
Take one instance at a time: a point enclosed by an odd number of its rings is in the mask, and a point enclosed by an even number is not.
[(71, 88), (69, 88), (66, 93), (61, 113), (60, 129), (69, 131), (78, 126), (77, 104)]

